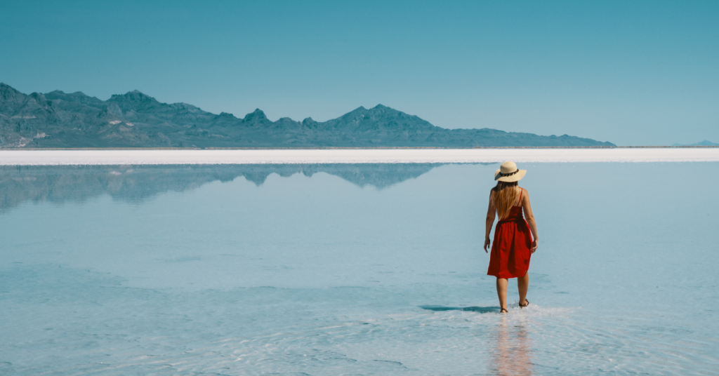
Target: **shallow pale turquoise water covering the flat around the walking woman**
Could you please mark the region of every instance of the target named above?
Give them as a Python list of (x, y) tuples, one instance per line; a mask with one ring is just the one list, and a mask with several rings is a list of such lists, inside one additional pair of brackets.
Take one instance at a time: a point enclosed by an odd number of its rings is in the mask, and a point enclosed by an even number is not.
[(0, 373), (717, 375), (715, 162), (0, 168)]

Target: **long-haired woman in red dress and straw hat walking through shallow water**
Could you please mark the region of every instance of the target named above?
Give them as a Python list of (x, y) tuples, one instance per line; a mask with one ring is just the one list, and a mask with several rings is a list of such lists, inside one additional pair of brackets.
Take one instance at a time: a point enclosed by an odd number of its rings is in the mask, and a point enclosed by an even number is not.
[[(494, 244), (490, 255), (490, 267), (487, 275), (497, 278), (497, 295), (500, 313), (507, 311), (507, 283), (509, 278), (517, 278), (519, 307), (529, 305), (529, 259), (537, 249), (537, 226), (529, 205), (529, 193), (520, 188), (517, 182), (524, 178), (527, 170), (519, 170), (514, 162), (504, 162), (495, 171), (497, 185), (490, 191), (490, 206), (487, 209), (487, 231), (485, 231), (485, 252), (490, 247), (490, 231), (495, 214), (499, 222), (495, 228)], [(522, 217), (522, 210), (526, 221)], [(529, 234), (531, 231), (531, 235)], [(532, 241), (532, 236), (534, 240)]]

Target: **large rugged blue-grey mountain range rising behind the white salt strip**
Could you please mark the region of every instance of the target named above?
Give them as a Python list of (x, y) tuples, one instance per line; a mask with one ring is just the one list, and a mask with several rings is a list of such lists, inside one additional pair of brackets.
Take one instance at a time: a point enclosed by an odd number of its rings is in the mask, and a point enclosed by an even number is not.
[(497, 129), (446, 129), (377, 105), (328, 121), (242, 119), (139, 91), (102, 101), (84, 93), (21, 93), (0, 83), (0, 148), (22, 147), (526, 147), (608, 146), (610, 142)]

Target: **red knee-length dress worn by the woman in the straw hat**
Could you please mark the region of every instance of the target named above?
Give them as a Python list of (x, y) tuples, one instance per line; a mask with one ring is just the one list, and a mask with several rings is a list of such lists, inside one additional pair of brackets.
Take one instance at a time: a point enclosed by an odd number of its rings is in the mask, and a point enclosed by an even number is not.
[(518, 278), (523, 277), (529, 270), (532, 235), (527, 221), (522, 216), (521, 192), (520, 206), (512, 206), (507, 218), (497, 222), (487, 275), (494, 275), (497, 278)]

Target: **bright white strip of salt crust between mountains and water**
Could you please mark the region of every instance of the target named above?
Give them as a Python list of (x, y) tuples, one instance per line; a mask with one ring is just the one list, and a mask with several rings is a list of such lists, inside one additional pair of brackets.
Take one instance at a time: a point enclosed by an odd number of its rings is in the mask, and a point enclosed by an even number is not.
[(0, 150), (0, 165), (719, 162), (719, 148)]

